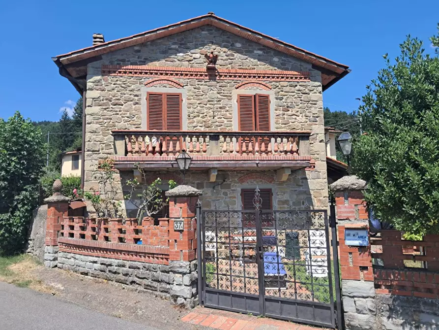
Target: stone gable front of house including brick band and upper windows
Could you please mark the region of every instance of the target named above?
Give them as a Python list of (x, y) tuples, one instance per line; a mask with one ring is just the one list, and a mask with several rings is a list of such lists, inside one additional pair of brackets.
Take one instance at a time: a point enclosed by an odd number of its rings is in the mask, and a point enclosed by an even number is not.
[[(208, 74), (205, 54), (212, 51), (218, 55), (216, 73)], [(96, 165), (115, 156), (112, 130), (147, 130), (157, 121), (160, 107), (167, 105), (160, 103), (153, 112), (151, 95), (165, 103), (168, 95), (179, 95), (180, 126), (169, 127), (182, 131), (238, 131), (239, 98), (254, 96), (256, 102), (260, 95), (268, 100), (264, 107), (254, 104), (255, 111), (258, 107), (265, 111), (261, 110), (265, 120), (261, 131), (311, 132), (309, 155), (315, 167), (295, 170), (287, 181), (276, 181), (276, 173), (267, 170), (263, 173), (273, 178), (272, 184), (258, 180), (241, 184), (238, 179), (246, 171), (221, 171), (217, 180), (225, 183), (214, 190), (215, 182), (205, 179), (207, 169), (202, 174), (189, 172), (186, 183), (204, 190), (205, 207), (240, 208), (240, 190), (256, 185), (272, 189), (279, 208), (327, 207), (321, 72), (310, 63), (209, 25), (103, 54), (88, 63), (85, 190), (98, 189)], [(132, 172), (120, 176), (123, 182)]]

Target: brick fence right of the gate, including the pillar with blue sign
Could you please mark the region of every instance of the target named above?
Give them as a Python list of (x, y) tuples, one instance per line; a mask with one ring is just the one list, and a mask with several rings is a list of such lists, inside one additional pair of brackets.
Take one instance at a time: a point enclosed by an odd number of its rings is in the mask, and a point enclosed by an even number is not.
[(369, 229), (361, 191), (337, 191), (336, 209), (346, 329), (438, 329), (439, 235), (383, 230), (369, 246), (348, 246), (345, 229)]

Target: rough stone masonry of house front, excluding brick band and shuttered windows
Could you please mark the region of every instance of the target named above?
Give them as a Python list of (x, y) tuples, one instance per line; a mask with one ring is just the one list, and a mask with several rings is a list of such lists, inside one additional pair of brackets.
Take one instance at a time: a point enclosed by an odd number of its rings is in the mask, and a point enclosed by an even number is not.
[[(114, 155), (111, 130), (142, 129), (142, 88), (145, 87), (145, 82), (151, 79), (133, 76), (102, 76), (101, 66), (148, 65), (200, 68), (206, 65), (204, 54), (211, 50), (219, 55), (218, 68), (310, 72), (310, 82), (265, 81), (272, 87), (271, 91), (274, 93), (274, 99), (272, 99), (275, 107), (274, 129), (311, 131), (310, 155), (316, 161), (315, 170), (306, 172), (301, 170), (300, 174), (292, 174), (288, 182), (273, 184), (279, 187), (279, 191), (283, 191), (286, 187), (289, 190), (318, 190), (319, 193), (308, 191), (311, 203), (317, 207), (326, 207), (327, 179), (320, 72), (314, 70), (309, 63), (212, 26), (118, 50), (103, 55), (100, 61), (88, 64), (85, 190), (98, 190), (96, 165), (99, 160)], [(235, 90), (234, 86), (242, 81), (176, 77), (173, 79), (183, 84), (183, 89), (187, 93), (188, 130), (234, 130), (232, 92)], [(205, 174), (200, 173), (197, 177), (204, 178)], [(230, 175), (237, 176), (238, 174)], [(202, 180), (200, 180), (199, 187), (203, 184)], [(226, 182), (222, 189), (228, 190), (224, 188), (228, 184)], [(231, 182), (230, 185), (230, 189), (233, 190), (233, 183)], [(221, 194), (230, 196), (225, 191)], [(120, 198), (121, 196), (120, 194)]]

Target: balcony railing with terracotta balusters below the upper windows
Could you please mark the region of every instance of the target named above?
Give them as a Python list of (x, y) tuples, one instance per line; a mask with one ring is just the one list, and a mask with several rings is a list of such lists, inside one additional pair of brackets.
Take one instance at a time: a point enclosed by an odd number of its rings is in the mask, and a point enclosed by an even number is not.
[[(310, 132), (112, 131), (118, 156), (308, 156)], [(165, 143), (166, 142), (166, 143)]]

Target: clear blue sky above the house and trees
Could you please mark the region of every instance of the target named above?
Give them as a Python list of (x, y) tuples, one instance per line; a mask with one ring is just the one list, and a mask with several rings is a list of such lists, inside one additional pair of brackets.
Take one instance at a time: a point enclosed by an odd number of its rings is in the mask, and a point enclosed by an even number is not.
[(4, 1), (0, 11), (0, 117), (16, 110), (32, 120), (58, 120), (78, 92), (51, 57), (91, 45), (92, 33), (112, 40), (208, 11), (349, 65), (352, 72), (323, 94), (331, 110), (351, 111), (355, 98), (399, 54), (410, 33), (425, 42), (436, 33), (438, 0), (362, 1)]

